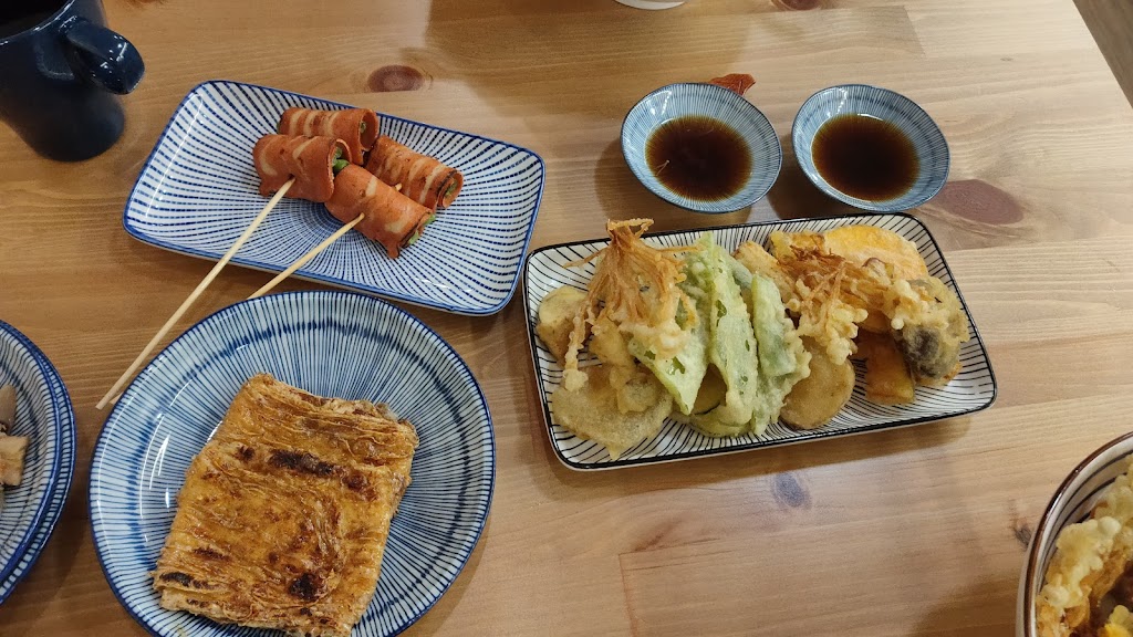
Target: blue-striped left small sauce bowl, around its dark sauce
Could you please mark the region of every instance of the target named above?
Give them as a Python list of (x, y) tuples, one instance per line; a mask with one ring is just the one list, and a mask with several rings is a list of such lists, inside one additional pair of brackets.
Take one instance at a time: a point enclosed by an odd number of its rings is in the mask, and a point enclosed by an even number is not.
[[(707, 116), (732, 127), (751, 152), (751, 175), (740, 192), (719, 201), (685, 197), (665, 187), (646, 162), (649, 137), (666, 121)], [(641, 97), (622, 121), (622, 155), (641, 184), (666, 202), (693, 212), (723, 214), (758, 202), (770, 190), (783, 165), (783, 148), (767, 117), (751, 102), (715, 84), (670, 84)]]

